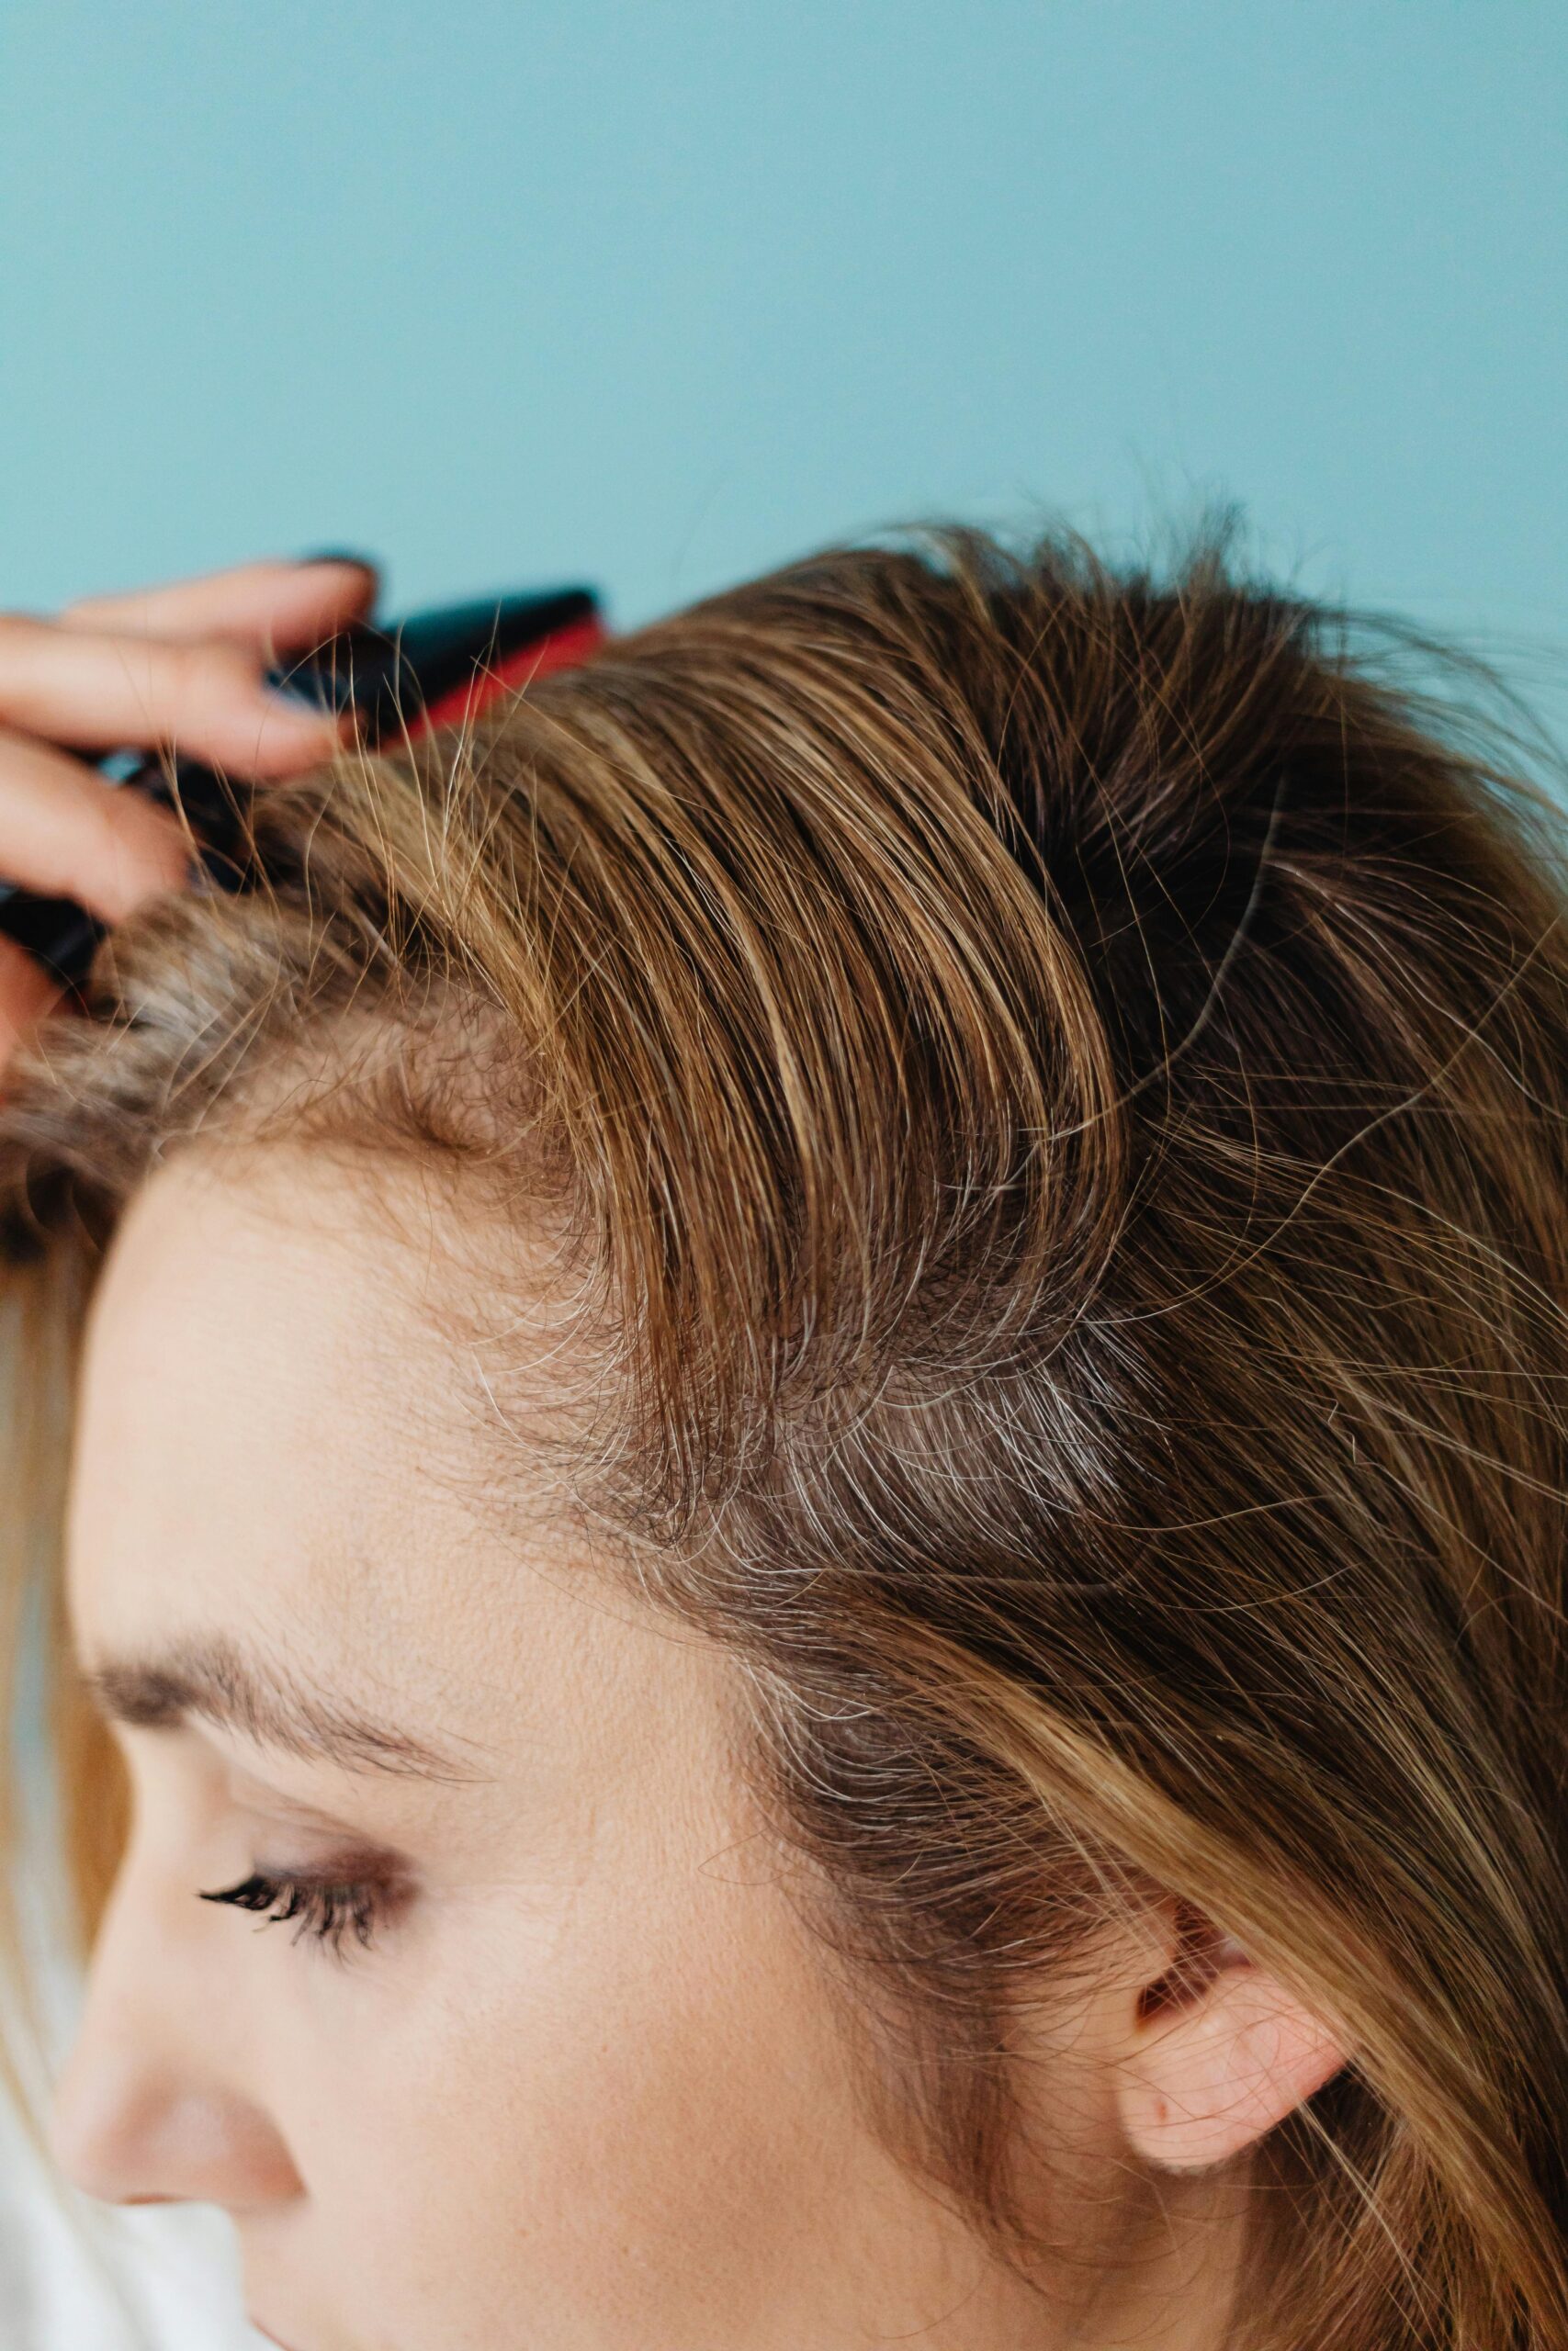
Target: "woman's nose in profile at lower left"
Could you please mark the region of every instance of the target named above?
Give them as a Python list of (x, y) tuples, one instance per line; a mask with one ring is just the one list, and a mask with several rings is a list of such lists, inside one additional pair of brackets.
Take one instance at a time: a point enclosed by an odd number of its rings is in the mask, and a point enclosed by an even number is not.
[(103, 2203), (244, 2212), (303, 2193), (235, 2024), (179, 1937), (148, 1930), (122, 1874), (54, 2090), (49, 2149), (61, 2172)]

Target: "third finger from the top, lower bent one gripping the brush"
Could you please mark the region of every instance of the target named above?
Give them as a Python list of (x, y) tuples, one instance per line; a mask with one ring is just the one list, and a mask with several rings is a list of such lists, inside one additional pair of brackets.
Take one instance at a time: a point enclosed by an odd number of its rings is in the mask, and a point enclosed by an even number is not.
[(45, 898), (120, 922), (179, 889), (190, 849), (179, 818), (146, 792), (101, 783), (80, 759), (0, 734), (0, 875)]

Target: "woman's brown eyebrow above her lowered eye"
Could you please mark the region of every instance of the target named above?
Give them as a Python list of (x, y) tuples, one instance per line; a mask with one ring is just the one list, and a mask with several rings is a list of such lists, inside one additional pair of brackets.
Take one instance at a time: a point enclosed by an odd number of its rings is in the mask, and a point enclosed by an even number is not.
[(158, 1655), (106, 1657), (80, 1672), (99, 1714), (136, 1730), (202, 1721), (308, 1763), (411, 1780), (484, 1777), (451, 1749), (360, 1714), (294, 1667), (247, 1653), (223, 1634), (179, 1641)]

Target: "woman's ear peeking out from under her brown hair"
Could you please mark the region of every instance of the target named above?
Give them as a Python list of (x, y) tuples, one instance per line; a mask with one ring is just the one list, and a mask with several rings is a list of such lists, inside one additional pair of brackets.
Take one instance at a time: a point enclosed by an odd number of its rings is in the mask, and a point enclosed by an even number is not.
[(1164, 2170), (1225, 2163), (1321, 2090), (1345, 2052), (1267, 1968), (1171, 1902), (1168, 1965), (1147, 1977), (1117, 2067), (1121, 2128)]

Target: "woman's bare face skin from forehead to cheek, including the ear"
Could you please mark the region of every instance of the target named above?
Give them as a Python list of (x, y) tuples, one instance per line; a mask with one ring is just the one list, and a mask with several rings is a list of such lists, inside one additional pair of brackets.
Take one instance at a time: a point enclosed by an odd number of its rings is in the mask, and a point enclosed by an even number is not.
[[(1001, 2264), (863, 2106), (738, 1667), (630, 1596), (440, 1333), (451, 1213), (411, 1171), (252, 1147), (169, 1161), (120, 1225), (68, 1613), (106, 1712), (139, 1693), (134, 1829), (61, 2168), (223, 2208), (289, 2351), (1218, 2351), (1246, 2151), (1331, 2038), (1218, 1935), (1154, 1998), (1192, 1956), (1175, 1904), (1107, 1930), (1018, 2052), (1058, 2250)], [(444, 1775), (153, 1721), (148, 1662), (214, 1641)], [(256, 1871), (376, 1888), (369, 1944), (200, 1900)]]

